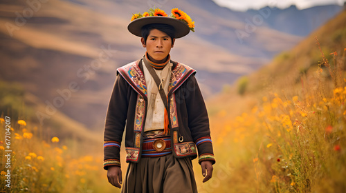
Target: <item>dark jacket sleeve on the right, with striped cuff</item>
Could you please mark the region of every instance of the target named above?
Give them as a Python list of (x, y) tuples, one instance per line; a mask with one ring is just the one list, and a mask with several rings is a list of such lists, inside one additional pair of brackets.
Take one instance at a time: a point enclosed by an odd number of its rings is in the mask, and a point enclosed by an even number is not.
[(206, 104), (204, 103), (201, 90), (194, 75), (188, 78), (185, 104), (188, 109), (188, 122), (192, 139), (197, 145), (199, 163), (211, 161), (215, 163), (210, 137), (209, 119)]

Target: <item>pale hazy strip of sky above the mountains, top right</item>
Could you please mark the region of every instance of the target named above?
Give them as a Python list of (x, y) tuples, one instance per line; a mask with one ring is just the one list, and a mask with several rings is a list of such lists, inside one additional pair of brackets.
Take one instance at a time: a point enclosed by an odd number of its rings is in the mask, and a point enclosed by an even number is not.
[(306, 9), (312, 6), (322, 6), (327, 4), (338, 4), (343, 6), (346, 0), (212, 0), (219, 6), (224, 6), (232, 10), (244, 11), (248, 8), (259, 9), (264, 6), (275, 6), (278, 8), (287, 8), (295, 4), (298, 9)]

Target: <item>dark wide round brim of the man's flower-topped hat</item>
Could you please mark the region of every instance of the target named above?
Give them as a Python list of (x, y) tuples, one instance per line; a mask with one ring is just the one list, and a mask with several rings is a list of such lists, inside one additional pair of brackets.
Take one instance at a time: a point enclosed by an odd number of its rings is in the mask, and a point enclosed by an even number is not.
[(142, 37), (142, 27), (148, 24), (161, 23), (172, 26), (175, 29), (175, 38), (181, 38), (190, 32), (190, 28), (187, 23), (180, 21), (172, 17), (163, 16), (150, 16), (150, 17), (140, 17), (131, 21), (127, 30), (138, 37)]

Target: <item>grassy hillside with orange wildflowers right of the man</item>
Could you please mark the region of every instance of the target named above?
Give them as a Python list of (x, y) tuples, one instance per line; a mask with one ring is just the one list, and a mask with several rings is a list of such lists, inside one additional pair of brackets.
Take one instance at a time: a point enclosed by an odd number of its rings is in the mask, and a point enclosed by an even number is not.
[(217, 165), (201, 190), (345, 192), (345, 21), (208, 101)]

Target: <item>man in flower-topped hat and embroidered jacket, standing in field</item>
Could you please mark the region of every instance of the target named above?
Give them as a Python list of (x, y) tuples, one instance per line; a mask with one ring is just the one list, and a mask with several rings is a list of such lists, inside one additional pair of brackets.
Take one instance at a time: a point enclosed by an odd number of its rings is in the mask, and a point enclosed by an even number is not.
[(129, 163), (122, 192), (197, 192), (191, 160), (199, 155), (203, 182), (215, 158), (206, 105), (195, 70), (170, 60), (176, 38), (194, 30), (178, 9), (134, 14), (129, 32), (141, 37), (143, 59), (117, 70), (104, 128), (104, 169), (121, 187), (120, 144)]

